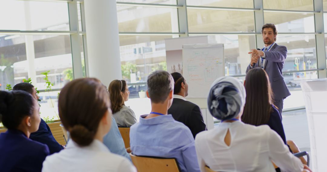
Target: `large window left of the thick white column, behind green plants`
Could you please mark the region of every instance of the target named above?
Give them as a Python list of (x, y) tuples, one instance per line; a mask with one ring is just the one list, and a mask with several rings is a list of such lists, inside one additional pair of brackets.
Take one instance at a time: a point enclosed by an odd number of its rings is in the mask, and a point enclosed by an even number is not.
[[(57, 96), (74, 79), (74, 58), (81, 59), (79, 76), (85, 76), (83, 34), (71, 37), (83, 29), (80, 4), (2, 0), (0, 6), (0, 90), (31, 82), (40, 92), (41, 117), (58, 120)], [(68, 13), (69, 6), (77, 13)], [(79, 47), (77, 55), (73, 44)], [(53, 84), (51, 90), (45, 79)]]

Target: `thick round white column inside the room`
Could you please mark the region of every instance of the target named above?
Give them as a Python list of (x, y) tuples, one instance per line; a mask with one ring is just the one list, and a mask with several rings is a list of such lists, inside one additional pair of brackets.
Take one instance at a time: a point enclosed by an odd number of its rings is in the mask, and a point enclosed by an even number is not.
[(89, 77), (121, 79), (116, 1), (84, 0)]

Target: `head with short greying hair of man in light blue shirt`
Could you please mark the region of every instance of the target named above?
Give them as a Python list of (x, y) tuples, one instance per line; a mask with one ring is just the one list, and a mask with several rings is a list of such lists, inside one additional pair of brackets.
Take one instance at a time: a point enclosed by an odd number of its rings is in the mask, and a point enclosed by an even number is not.
[(174, 89), (174, 79), (167, 72), (157, 70), (147, 77), (147, 92), (151, 103), (164, 103)]

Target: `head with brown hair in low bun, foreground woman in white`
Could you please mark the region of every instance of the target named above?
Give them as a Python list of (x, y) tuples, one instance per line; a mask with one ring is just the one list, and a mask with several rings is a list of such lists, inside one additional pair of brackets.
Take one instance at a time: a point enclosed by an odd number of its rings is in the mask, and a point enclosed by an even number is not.
[(99, 123), (110, 110), (109, 93), (95, 78), (74, 79), (61, 90), (59, 117), (71, 138), (79, 146), (88, 146), (95, 138)]

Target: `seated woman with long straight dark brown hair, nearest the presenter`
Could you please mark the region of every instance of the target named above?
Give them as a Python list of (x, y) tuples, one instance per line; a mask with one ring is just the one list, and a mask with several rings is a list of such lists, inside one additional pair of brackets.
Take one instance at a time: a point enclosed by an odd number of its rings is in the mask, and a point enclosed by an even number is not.
[[(251, 69), (246, 75), (244, 86), (247, 96), (242, 122), (255, 126), (267, 124), (281, 136), (292, 153), (300, 152), (292, 140), (286, 141), (281, 115), (272, 103), (273, 93), (266, 71), (261, 67)], [(303, 164), (307, 163), (303, 157), (300, 159)]]

